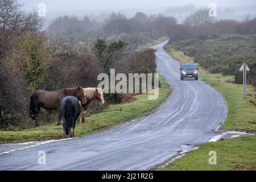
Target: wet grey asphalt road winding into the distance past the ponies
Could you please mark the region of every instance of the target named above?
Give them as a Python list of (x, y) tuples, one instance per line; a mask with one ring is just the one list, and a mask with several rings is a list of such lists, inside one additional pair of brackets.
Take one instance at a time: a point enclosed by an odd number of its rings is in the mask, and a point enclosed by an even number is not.
[[(173, 93), (158, 110), (87, 137), (28, 143), (22, 150), (17, 144), (0, 145), (2, 152), (14, 149), (0, 155), (0, 170), (146, 170), (208, 142), (225, 119), (225, 101), (203, 81), (181, 81), (179, 63), (163, 51), (165, 43), (154, 48), (158, 70)], [(46, 152), (46, 165), (38, 164), (39, 151)]]

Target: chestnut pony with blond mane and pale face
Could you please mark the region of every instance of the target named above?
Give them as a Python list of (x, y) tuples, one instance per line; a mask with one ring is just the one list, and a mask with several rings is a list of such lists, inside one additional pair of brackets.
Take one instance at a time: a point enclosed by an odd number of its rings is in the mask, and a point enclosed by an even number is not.
[(103, 90), (100, 88), (85, 88), (84, 94), (86, 98), (86, 102), (84, 104), (81, 104), (82, 106), (82, 123), (85, 123), (84, 116), (86, 114), (86, 111), (89, 107), (90, 102), (92, 102), (94, 99), (97, 99), (98, 102), (102, 105), (104, 104), (104, 97), (103, 97)]

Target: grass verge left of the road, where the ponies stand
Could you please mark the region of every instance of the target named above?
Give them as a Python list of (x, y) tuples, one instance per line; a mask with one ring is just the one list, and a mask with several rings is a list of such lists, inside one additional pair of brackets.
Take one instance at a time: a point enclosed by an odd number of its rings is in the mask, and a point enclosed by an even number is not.
[[(135, 98), (137, 98), (136, 101), (109, 106), (108, 109), (103, 110), (101, 113), (86, 117), (85, 124), (77, 125), (76, 137), (82, 137), (109, 129), (119, 123), (141, 117), (162, 105), (163, 102), (167, 100), (168, 96), (170, 96), (171, 89), (163, 76), (159, 76), (159, 80), (161, 87), (159, 88), (159, 97), (157, 100), (148, 100), (148, 94), (139, 94), (135, 96)], [(60, 139), (62, 133), (63, 127), (56, 126), (55, 123), (23, 131), (0, 131), (0, 143)]]

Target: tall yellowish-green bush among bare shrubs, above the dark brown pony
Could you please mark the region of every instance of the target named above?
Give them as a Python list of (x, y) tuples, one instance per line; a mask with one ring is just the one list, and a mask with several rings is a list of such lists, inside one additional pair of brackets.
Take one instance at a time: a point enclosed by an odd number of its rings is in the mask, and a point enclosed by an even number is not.
[(17, 49), (13, 59), (20, 65), (28, 89), (30, 92), (44, 89), (44, 71), (49, 59), (47, 37), (35, 32), (26, 32), (14, 42)]

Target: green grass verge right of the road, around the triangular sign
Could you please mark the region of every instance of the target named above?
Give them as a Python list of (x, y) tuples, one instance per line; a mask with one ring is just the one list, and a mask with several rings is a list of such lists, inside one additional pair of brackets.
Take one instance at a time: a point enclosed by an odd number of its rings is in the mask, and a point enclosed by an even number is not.
[[(183, 52), (164, 47), (168, 53), (182, 63), (193, 60)], [(247, 98), (242, 98), (242, 86), (233, 84), (233, 76), (210, 74), (200, 69), (200, 78), (221, 92), (228, 104), (229, 113), (223, 129), (256, 132), (255, 90), (247, 85)], [(209, 152), (216, 151), (217, 165), (209, 164)], [(160, 165), (161, 166), (161, 165)], [(189, 152), (170, 166), (159, 170), (256, 170), (256, 136), (248, 135), (218, 142), (201, 144), (199, 149)]]

